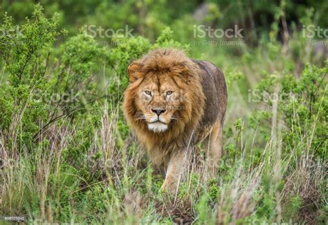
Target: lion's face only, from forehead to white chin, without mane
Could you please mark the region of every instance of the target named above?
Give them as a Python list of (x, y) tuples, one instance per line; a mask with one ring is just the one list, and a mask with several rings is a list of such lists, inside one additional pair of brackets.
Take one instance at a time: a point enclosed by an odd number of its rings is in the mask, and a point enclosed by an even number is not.
[(136, 120), (145, 120), (152, 132), (165, 132), (172, 120), (179, 120), (175, 113), (181, 101), (181, 90), (172, 75), (149, 73), (138, 87)]

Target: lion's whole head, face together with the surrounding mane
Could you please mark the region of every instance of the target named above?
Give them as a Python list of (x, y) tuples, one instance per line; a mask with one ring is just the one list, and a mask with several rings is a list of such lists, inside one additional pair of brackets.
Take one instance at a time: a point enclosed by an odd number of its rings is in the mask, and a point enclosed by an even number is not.
[(122, 107), (139, 141), (149, 149), (188, 140), (205, 99), (197, 64), (181, 51), (154, 51), (132, 62), (127, 75)]

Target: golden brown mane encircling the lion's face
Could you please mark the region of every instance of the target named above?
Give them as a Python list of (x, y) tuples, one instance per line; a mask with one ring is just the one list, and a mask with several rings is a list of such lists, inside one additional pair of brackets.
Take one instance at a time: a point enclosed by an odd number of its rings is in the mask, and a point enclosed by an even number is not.
[[(191, 141), (194, 129), (203, 116), (205, 96), (201, 86), (199, 66), (185, 56), (183, 51), (176, 49), (157, 49), (133, 62), (128, 69), (134, 72), (131, 82), (125, 91), (123, 109), (127, 122), (133, 127), (140, 143), (146, 147), (152, 161), (156, 164), (167, 164), (174, 150), (187, 146)], [(146, 75), (161, 77), (165, 73), (172, 76), (176, 85), (183, 91), (185, 99), (181, 101), (179, 120), (170, 123), (169, 129), (163, 133), (154, 133), (147, 129), (143, 120), (136, 120), (136, 98), (138, 87)]]

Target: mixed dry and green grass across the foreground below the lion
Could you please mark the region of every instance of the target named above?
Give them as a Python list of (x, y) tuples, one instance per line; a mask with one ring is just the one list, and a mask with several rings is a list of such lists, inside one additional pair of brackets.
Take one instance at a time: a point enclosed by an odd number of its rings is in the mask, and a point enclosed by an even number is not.
[[(201, 163), (194, 163), (179, 193), (169, 196), (159, 192), (163, 177), (136, 144), (115, 147), (118, 110), (109, 114), (107, 108), (84, 156), (91, 174), (101, 172), (93, 183), (81, 177), (69, 159), (64, 160), (63, 152), (76, 135), (74, 127), (49, 128), (32, 154), (1, 150), (6, 164), (1, 169), (2, 215), (50, 223), (258, 224), (312, 223), (323, 213), (320, 201), (327, 165), (311, 158), (311, 146), (302, 156), (294, 148), (283, 157), (278, 152), (281, 141), (271, 139), (259, 159), (252, 154), (254, 146), (250, 153), (240, 152), (235, 161), (226, 153), (217, 180), (202, 177), (206, 172)], [(311, 136), (302, 140), (300, 145), (311, 145)], [(102, 154), (93, 159), (95, 152)]]

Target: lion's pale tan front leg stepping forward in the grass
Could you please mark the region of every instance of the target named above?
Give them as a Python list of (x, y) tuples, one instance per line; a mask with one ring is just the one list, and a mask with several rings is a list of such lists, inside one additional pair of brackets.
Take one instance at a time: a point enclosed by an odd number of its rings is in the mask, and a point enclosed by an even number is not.
[(190, 150), (179, 150), (171, 154), (161, 190), (165, 189), (169, 192), (178, 190), (179, 184), (185, 179), (188, 165), (191, 161), (191, 152)]

